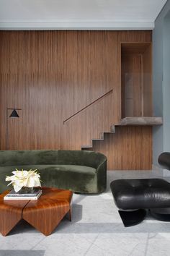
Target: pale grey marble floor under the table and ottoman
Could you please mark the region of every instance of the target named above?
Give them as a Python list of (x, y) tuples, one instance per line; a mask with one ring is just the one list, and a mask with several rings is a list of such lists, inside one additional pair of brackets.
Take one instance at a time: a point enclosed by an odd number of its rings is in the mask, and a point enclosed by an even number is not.
[(8, 236), (0, 235), (0, 256), (169, 256), (170, 223), (147, 216), (138, 226), (125, 228), (109, 189), (113, 179), (153, 176), (152, 171), (108, 172), (106, 192), (73, 194), (71, 222), (63, 219), (50, 236), (21, 222)]

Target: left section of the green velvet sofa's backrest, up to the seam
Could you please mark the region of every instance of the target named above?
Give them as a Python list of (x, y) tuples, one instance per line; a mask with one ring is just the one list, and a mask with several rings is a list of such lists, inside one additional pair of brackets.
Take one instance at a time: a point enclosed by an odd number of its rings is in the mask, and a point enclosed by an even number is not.
[(58, 150), (2, 150), (0, 166), (56, 164)]

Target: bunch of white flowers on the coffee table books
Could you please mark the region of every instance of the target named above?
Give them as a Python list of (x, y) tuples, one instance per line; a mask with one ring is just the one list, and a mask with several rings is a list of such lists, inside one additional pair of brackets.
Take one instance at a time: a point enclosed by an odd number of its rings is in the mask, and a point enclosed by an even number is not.
[(14, 186), (15, 192), (18, 192), (22, 187), (41, 187), (40, 184), (40, 174), (37, 174), (37, 170), (12, 171), (12, 176), (6, 176), (6, 182), (10, 182)]

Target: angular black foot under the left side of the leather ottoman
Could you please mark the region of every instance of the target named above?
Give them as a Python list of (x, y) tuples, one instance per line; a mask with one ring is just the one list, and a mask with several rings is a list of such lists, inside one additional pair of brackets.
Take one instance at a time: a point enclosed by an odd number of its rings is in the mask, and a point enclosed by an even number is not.
[(142, 222), (146, 217), (146, 210), (138, 209), (138, 210), (118, 210), (120, 217), (122, 218), (122, 223), (125, 227), (135, 226), (138, 223)]

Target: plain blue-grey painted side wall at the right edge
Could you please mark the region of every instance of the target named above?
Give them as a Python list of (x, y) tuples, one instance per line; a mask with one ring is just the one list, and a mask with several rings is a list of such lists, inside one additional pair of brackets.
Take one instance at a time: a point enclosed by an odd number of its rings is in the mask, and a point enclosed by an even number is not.
[(170, 0), (158, 15), (153, 30), (153, 116), (163, 116), (164, 125), (153, 127), (153, 164), (170, 151)]

